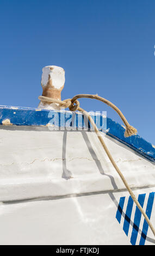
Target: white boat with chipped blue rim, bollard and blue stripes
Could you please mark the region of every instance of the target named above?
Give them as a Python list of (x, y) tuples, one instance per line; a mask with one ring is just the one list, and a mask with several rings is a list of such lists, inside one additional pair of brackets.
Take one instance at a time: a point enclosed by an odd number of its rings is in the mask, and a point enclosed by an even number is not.
[[(54, 93), (60, 95), (61, 87)], [(139, 135), (125, 137), (125, 127), (103, 113), (90, 115), (155, 226), (155, 146)], [(83, 113), (47, 102), (0, 106), (0, 124), (1, 245), (154, 245)]]

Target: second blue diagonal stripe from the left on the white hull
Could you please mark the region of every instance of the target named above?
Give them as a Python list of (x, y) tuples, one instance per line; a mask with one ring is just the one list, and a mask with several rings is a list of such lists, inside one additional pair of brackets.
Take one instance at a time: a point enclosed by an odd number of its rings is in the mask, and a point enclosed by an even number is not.
[(131, 196), (129, 196), (127, 209), (126, 209), (126, 215), (125, 215), (125, 221), (123, 224), (123, 230), (125, 231), (126, 235), (128, 235), (129, 224), (131, 221), (132, 208), (133, 208), (133, 199)]

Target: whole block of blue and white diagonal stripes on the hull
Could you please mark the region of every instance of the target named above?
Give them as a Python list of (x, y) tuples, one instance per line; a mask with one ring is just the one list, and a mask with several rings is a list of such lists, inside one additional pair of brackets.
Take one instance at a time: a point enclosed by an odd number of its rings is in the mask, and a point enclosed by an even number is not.
[[(151, 218), (155, 192), (139, 194), (138, 202)], [(116, 212), (116, 219), (122, 225), (123, 231), (130, 238), (132, 245), (145, 245), (148, 224), (131, 196), (121, 197)]]

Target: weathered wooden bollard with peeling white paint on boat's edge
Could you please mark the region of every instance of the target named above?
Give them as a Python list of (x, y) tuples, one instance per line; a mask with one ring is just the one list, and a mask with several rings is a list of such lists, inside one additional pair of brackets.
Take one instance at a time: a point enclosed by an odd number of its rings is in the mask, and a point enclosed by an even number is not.
[[(61, 90), (65, 84), (65, 70), (59, 66), (45, 66), (42, 69), (42, 96), (61, 100)], [(40, 101), (38, 108), (60, 109), (59, 104)]]

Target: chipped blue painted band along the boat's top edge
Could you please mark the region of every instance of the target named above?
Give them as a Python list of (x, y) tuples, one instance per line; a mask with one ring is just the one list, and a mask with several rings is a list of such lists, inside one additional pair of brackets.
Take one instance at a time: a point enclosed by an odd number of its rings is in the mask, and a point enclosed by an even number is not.
[[(140, 155), (146, 157), (146, 159), (155, 162), (155, 148), (152, 147), (151, 143), (148, 143), (145, 141), (145, 139), (138, 135), (125, 138), (125, 129), (110, 118), (106, 119), (100, 114), (92, 114), (91, 117), (96, 121), (98, 129), (104, 132), (108, 129), (108, 136), (113, 137), (117, 141), (127, 145), (127, 147), (135, 150)], [(1, 125), (4, 119), (10, 119), (10, 123), (13, 125), (40, 126), (47, 125), (48, 123), (52, 123), (54, 121), (55, 126), (72, 126), (75, 128), (85, 127), (83, 118), (79, 118), (81, 120), (79, 121), (78, 114), (70, 111), (51, 111), (48, 109), (0, 106)], [(89, 129), (90, 127), (91, 125), (88, 124)]]

